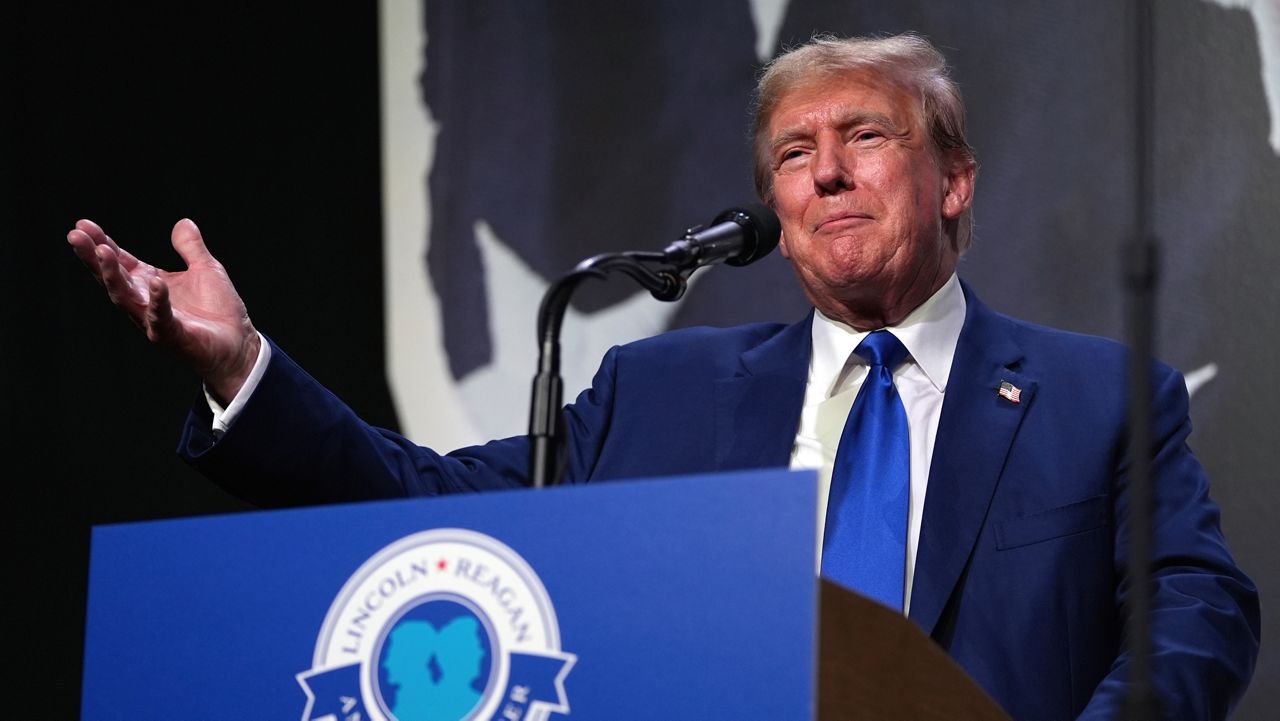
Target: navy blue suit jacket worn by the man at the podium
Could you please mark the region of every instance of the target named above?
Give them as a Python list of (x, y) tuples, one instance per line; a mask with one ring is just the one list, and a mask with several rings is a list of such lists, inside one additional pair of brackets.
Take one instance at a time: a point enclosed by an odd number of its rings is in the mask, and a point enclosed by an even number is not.
[[(1015, 718), (1115, 718), (1126, 656), (1125, 352), (986, 309), (965, 287), (910, 619)], [(566, 409), (567, 483), (785, 467), (810, 320), (686, 329), (613, 348)], [(1020, 402), (997, 394), (1002, 382)], [(1222, 718), (1253, 672), (1258, 601), (1187, 446), (1181, 377), (1155, 369), (1155, 684), (1171, 717)], [(179, 452), (265, 506), (525, 484), (525, 438), (439, 455), (369, 426), (279, 348), (216, 441), (202, 400)]]

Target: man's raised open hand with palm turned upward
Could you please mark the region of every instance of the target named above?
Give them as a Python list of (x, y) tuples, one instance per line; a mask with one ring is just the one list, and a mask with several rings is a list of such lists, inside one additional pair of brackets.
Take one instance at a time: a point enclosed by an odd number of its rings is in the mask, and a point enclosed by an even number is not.
[(260, 341), (236, 286), (195, 223), (182, 219), (172, 233), (186, 270), (138, 260), (92, 220), (78, 220), (67, 242), (147, 338), (174, 351), (223, 403), (236, 396), (253, 369)]

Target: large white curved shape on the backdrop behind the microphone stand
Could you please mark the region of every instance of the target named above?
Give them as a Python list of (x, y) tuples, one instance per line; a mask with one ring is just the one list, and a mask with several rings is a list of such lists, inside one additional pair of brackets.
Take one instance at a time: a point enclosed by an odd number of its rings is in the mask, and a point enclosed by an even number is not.
[[(488, 266), (488, 277), (477, 270), (476, 282), (485, 283), (495, 362), (454, 382), (444, 351), (439, 298), (422, 260), (431, 222), (426, 179), (439, 132), (419, 88), (428, 38), (422, 10), (421, 1), (379, 3), (387, 380), (401, 432), (417, 443), (451, 451), (529, 430), (538, 362), (534, 323), (547, 282), (488, 225), (476, 227)], [(699, 270), (690, 288), (709, 270)], [(516, 286), (518, 293), (512, 292)], [(677, 307), (641, 292), (590, 319), (571, 311), (562, 329), (566, 400), (590, 383), (611, 346), (658, 333)]]

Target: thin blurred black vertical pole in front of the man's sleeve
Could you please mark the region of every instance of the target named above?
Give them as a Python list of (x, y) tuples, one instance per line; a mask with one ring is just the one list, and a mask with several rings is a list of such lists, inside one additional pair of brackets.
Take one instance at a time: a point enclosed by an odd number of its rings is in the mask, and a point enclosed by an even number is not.
[(1153, 224), (1155, 18), (1152, 0), (1133, 0), (1134, 236), (1123, 257), (1129, 333), (1129, 685), (1125, 717), (1161, 718), (1151, 684), (1152, 432), (1151, 361), (1155, 357), (1156, 286), (1160, 247)]

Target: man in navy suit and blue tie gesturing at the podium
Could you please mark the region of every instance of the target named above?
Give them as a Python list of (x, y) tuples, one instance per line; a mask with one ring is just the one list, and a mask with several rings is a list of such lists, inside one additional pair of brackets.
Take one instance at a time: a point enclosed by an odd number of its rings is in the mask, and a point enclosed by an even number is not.
[[(1124, 350), (997, 315), (956, 278), (975, 163), (928, 42), (817, 38), (771, 64), (758, 92), (758, 190), (815, 310), (612, 350), (566, 409), (566, 482), (818, 467), (824, 575), (829, 562), (906, 612), (1014, 717), (1116, 717), (1129, 666)], [(264, 342), (189, 220), (173, 231), (180, 273), (87, 220), (68, 241), (204, 379), (209, 403), (180, 452), (233, 493), (296, 505), (525, 483), (525, 438), (444, 456), (356, 417)], [(1185, 444), (1181, 378), (1157, 366), (1153, 394), (1153, 683), (1172, 717), (1222, 718), (1253, 671), (1257, 594)], [(873, 397), (900, 432), (854, 423)], [(901, 457), (847, 450), (877, 435)], [(881, 476), (900, 485), (859, 496)], [(868, 578), (881, 549), (860, 533), (881, 525), (896, 548)]]

